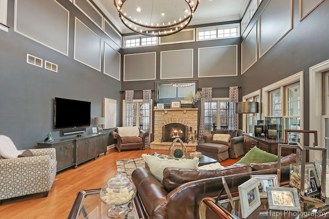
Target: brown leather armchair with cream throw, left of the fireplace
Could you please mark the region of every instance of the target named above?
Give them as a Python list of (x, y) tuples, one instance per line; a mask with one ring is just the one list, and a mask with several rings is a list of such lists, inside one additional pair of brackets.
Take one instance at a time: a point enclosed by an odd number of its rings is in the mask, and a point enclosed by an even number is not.
[[(118, 152), (121, 150), (127, 150), (127, 149), (145, 149), (145, 138), (149, 136), (148, 132), (145, 132), (143, 130), (139, 130), (139, 136), (121, 136), (120, 135), (120, 129), (124, 129), (125, 127), (116, 128), (113, 132), (111, 132), (111, 135), (114, 138), (114, 145), (118, 149)], [(126, 127), (126, 128), (132, 128), (132, 127)], [(135, 127), (137, 129), (137, 127)]]

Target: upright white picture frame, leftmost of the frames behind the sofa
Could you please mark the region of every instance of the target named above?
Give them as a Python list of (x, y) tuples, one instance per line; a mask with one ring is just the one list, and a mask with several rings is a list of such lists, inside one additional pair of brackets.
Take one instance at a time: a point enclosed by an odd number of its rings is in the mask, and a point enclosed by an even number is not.
[(242, 217), (247, 218), (254, 210), (261, 206), (257, 178), (250, 178), (250, 180), (237, 188), (239, 190)]

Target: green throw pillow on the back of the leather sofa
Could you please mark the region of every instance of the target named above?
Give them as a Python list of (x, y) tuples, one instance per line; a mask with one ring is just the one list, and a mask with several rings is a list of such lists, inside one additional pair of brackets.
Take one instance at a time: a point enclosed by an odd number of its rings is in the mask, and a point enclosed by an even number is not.
[(262, 151), (258, 147), (253, 147), (240, 161), (236, 164), (250, 164), (250, 163), (267, 163), (278, 161), (278, 156), (275, 154), (267, 153)]

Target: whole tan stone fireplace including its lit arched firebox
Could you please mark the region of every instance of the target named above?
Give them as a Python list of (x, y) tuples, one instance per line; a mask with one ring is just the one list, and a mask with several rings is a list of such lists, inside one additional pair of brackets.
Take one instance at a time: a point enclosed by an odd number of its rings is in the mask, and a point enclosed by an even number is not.
[(197, 144), (189, 140), (191, 136), (193, 140), (196, 137), (197, 112), (196, 108), (154, 109), (154, 142), (151, 143), (151, 149), (169, 150), (175, 137), (179, 136), (188, 151), (195, 151)]

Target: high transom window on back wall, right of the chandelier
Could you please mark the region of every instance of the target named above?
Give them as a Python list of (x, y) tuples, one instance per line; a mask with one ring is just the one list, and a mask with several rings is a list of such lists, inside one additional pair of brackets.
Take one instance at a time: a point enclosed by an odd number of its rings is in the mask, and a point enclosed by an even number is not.
[(196, 30), (197, 41), (240, 36), (240, 24), (220, 25), (211, 28), (196, 28)]

